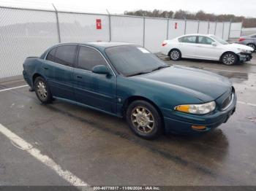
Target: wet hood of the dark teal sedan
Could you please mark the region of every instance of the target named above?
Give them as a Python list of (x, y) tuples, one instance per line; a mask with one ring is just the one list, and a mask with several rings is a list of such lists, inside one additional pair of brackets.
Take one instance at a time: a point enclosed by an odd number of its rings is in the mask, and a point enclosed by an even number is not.
[(170, 89), (183, 91), (203, 102), (219, 98), (232, 87), (226, 77), (184, 66), (170, 66), (166, 69), (135, 76), (135, 78), (157, 83), (159, 88), (161, 85), (167, 85)]

